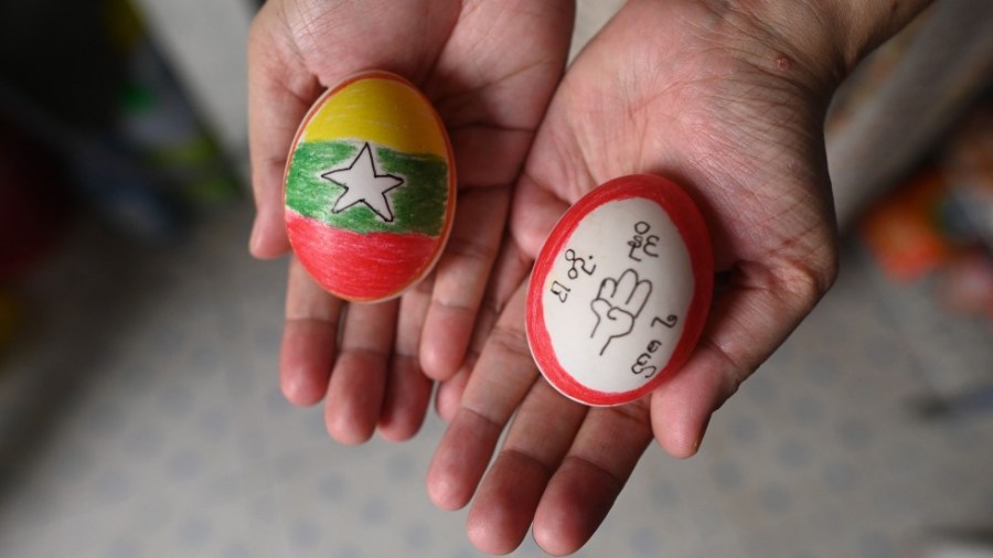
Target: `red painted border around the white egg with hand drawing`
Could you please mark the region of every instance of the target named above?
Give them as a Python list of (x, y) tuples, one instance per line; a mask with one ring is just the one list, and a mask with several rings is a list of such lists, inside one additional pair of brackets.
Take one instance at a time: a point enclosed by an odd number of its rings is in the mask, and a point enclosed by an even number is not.
[[(579, 384), (563, 368), (545, 328), (542, 291), (552, 266), (579, 222), (597, 207), (609, 202), (642, 197), (654, 202), (669, 215), (679, 230), (690, 255), (693, 271), (693, 300), (686, 311), (683, 333), (676, 342), (665, 367), (643, 386), (629, 391), (605, 393)], [(532, 270), (527, 289), (527, 341), (538, 368), (556, 389), (587, 405), (611, 406), (644, 396), (676, 372), (690, 357), (700, 340), (709, 313), (714, 291), (714, 256), (706, 223), (696, 204), (682, 187), (670, 180), (651, 174), (634, 174), (611, 180), (573, 205), (556, 223)]]

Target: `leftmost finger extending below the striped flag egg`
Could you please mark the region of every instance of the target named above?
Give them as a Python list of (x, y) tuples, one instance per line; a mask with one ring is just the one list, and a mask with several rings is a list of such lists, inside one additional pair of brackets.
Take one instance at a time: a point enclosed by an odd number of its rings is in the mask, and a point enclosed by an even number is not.
[(279, 385), (293, 405), (313, 405), (328, 390), (342, 304), (290, 258)]

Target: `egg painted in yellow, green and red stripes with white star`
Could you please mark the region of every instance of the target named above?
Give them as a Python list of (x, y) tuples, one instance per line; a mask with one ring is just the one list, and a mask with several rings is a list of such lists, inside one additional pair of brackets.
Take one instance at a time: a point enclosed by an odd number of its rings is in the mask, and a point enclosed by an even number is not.
[(286, 229), (300, 262), (351, 301), (399, 296), (451, 230), (456, 174), (425, 96), (386, 72), (354, 75), (305, 117), (286, 169)]

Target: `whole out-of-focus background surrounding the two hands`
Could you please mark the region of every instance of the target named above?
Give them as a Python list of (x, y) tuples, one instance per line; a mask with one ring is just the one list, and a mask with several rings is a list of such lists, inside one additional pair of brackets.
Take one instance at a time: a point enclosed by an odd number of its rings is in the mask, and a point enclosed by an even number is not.
[[(620, 2), (579, 4), (574, 53)], [(424, 490), (438, 419), (343, 448), (278, 391), (285, 261), (246, 253), (257, 6), (0, 0), (0, 556), (477, 555)], [(846, 82), (836, 287), (580, 556), (993, 556), (991, 85), (981, 0)]]

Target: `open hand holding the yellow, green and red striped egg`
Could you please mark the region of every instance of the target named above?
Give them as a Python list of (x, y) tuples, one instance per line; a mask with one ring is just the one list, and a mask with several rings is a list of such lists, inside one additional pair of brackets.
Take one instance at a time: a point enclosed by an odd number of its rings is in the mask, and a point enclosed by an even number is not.
[(290, 143), (321, 92), (345, 76), (386, 69), (418, 84), (455, 151), (457, 217), (430, 280), (398, 301), (346, 309), (290, 262), (280, 384), (298, 405), (325, 398), (335, 439), (362, 442), (377, 427), (387, 439), (413, 436), (430, 378), (462, 364), (510, 187), (562, 75), (572, 17), (565, 0), (269, 0), (256, 18), (248, 45), (253, 255), (288, 250)]

